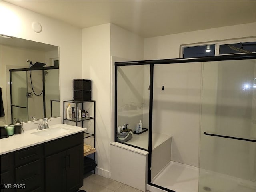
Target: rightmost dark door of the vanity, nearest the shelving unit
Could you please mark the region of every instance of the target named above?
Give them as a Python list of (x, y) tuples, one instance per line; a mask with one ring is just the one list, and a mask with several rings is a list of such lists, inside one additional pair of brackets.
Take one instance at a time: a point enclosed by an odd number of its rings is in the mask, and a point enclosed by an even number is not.
[(77, 191), (83, 186), (83, 145), (66, 150), (67, 192)]

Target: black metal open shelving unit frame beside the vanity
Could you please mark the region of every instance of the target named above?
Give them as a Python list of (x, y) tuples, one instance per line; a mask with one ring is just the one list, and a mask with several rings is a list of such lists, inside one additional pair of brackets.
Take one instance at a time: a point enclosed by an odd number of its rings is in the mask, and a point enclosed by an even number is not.
[[(82, 110), (83, 110), (83, 103), (88, 103), (88, 102), (94, 102), (94, 117), (89, 116), (89, 117), (78, 118), (77, 115), (76, 115), (75, 118), (71, 118), (71, 119), (65, 118), (65, 112), (66, 112), (66, 110), (65, 110), (66, 109), (65, 108), (65, 103), (74, 103), (74, 104), (76, 104), (75, 110), (77, 109), (78, 104), (82, 104)], [(93, 137), (93, 139), (94, 139), (94, 148), (95, 148), (95, 143), (96, 143), (95, 142), (95, 128), (96, 128), (95, 127), (96, 126), (96, 122), (95, 122), (96, 115), (95, 115), (95, 112), (96, 112), (96, 101), (94, 101), (94, 100), (90, 100), (90, 101), (77, 101), (77, 100), (63, 101), (63, 123), (64, 124), (65, 124), (65, 121), (71, 121), (71, 122), (76, 122), (76, 126), (78, 126), (77, 123), (81, 122), (82, 123), (82, 127), (83, 127), (83, 122), (84, 121), (94, 120), (94, 134), (83, 132), (84, 139)], [(94, 156), (94, 161), (95, 161), (95, 152), (93, 152), (93, 156)], [(94, 169), (94, 173), (95, 173), (95, 169)]]

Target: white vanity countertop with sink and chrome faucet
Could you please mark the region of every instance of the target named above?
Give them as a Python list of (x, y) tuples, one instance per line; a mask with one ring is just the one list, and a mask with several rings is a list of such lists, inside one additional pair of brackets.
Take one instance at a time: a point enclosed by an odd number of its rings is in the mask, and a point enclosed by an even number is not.
[(21, 134), (12, 135), (8, 138), (0, 139), (0, 154), (6, 154), (12, 151), (20, 150), (23, 148), (27, 148), (30, 146), (34, 146), (37, 144), (41, 144), (44, 142), (48, 142), (54, 139), (62, 138), (64, 136), (72, 135), (75, 133), (83, 132), (87, 130), (86, 128), (82, 127), (76, 127), (72, 125), (67, 124), (55, 124), (50, 126), (51, 128), (64, 128), (66, 129), (65, 132), (58, 133), (58, 134), (45, 134), (44, 136), (39, 136), (36, 134), (33, 134), (34, 132), (44, 132), (48, 129), (44, 130), (25, 130), (25, 132), (22, 132)]

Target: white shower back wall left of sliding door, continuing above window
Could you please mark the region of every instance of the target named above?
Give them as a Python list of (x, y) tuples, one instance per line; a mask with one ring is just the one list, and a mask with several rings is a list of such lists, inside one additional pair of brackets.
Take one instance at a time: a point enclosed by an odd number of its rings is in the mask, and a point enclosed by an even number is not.
[[(179, 58), (182, 44), (247, 38), (255, 35), (256, 24), (250, 23), (146, 38), (144, 60)], [(180, 68), (174, 65), (154, 68), (154, 73), (160, 78), (154, 78), (156, 86), (154, 87), (153, 131), (173, 136), (172, 160), (198, 166), (201, 65), (196, 63), (189, 66), (179, 65)], [(168, 82), (170, 80), (168, 76), (172, 78), (171, 82)], [(192, 81), (194, 84), (191, 84)], [(167, 85), (165, 91), (160, 90), (162, 85)], [(161, 103), (165, 104), (159, 108)], [(170, 104), (170, 108), (166, 108), (167, 104)]]

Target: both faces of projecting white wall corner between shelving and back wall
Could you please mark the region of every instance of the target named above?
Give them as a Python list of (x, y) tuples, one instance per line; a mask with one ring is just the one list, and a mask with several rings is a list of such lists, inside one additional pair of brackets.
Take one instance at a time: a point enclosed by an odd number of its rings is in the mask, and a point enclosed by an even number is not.
[(112, 57), (142, 60), (143, 38), (114, 24), (82, 29), (82, 77), (93, 80), (96, 100), (97, 173), (110, 177), (110, 137), (114, 129)]

